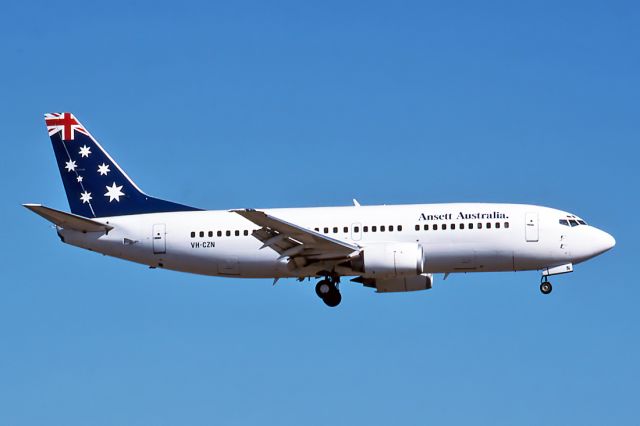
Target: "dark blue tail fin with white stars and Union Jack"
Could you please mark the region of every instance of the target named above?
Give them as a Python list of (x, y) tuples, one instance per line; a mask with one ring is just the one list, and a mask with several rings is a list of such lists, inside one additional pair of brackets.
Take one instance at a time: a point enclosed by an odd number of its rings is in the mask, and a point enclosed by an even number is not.
[(146, 195), (69, 112), (45, 114), (69, 207), (84, 217), (199, 210)]

